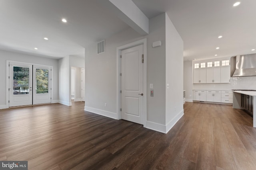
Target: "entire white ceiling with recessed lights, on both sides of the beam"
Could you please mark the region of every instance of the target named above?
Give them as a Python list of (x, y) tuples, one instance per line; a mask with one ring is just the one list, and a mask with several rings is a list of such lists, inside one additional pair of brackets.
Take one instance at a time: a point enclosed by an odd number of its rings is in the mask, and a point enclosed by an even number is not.
[[(233, 7), (236, 1), (133, 0), (148, 18), (167, 12), (184, 41), (184, 60), (256, 53), (251, 51), (256, 49), (256, 0), (239, 0)], [(54, 58), (84, 56), (87, 45), (128, 28), (97, 2), (0, 0), (0, 49)]]

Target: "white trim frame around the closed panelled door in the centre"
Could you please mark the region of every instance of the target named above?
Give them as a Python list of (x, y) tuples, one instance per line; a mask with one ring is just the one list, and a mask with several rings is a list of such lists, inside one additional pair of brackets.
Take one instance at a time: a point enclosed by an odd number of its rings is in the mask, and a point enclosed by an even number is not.
[(121, 51), (124, 49), (128, 49), (131, 47), (135, 47), (143, 44), (143, 54), (144, 54), (144, 64), (143, 64), (143, 112), (142, 112), (142, 123), (143, 126), (146, 127), (146, 119), (147, 119), (147, 39), (141, 39), (139, 41), (135, 41), (126, 45), (122, 45), (116, 48), (116, 119), (121, 119)]

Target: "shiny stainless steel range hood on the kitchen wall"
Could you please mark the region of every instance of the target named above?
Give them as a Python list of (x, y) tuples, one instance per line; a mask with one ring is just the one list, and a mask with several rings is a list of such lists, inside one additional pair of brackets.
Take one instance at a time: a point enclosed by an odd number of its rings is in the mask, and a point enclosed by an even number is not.
[(256, 54), (236, 56), (236, 70), (233, 77), (256, 76)]

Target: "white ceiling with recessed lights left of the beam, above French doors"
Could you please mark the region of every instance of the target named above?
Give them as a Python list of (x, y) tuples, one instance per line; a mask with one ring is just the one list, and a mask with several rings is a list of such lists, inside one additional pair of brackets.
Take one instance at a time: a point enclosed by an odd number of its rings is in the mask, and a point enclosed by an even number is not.
[(84, 57), (84, 47), (126, 28), (95, 0), (0, 0), (0, 49), (7, 51)]

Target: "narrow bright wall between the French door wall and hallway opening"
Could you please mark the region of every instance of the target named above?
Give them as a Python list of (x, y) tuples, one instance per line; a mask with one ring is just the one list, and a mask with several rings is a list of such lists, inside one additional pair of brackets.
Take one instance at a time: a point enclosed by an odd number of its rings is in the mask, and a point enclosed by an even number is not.
[(58, 60), (59, 66), (59, 102), (71, 106), (71, 68), (69, 66), (69, 56)]

